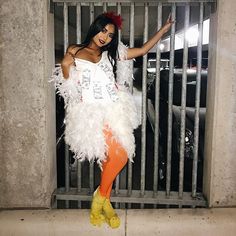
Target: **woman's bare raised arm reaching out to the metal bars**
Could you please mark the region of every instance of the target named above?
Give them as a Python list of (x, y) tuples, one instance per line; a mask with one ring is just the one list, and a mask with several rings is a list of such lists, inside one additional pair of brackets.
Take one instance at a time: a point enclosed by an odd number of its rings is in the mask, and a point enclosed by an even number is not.
[(128, 48), (127, 50), (127, 60), (143, 56), (148, 53), (148, 51), (161, 39), (161, 37), (169, 31), (171, 25), (174, 21), (171, 19), (171, 16), (168, 17), (166, 23), (162, 28), (156, 32), (156, 34), (149, 39), (146, 43), (143, 44), (140, 48)]

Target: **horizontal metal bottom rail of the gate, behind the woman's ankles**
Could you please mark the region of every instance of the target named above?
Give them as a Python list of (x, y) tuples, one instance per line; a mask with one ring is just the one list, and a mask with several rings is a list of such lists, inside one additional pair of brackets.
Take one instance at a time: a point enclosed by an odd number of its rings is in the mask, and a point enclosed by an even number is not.
[[(71, 188), (69, 192), (65, 192), (64, 188), (57, 189), (53, 193), (53, 197), (56, 200), (71, 200), (71, 201), (91, 201), (92, 194), (88, 188), (83, 188), (78, 194), (76, 188)], [(141, 196), (139, 190), (133, 190), (130, 197), (128, 197), (128, 190), (119, 191), (118, 195), (111, 195), (112, 202), (122, 202), (122, 203), (140, 203), (140, 204), (168, 204), (168, 205), (179, 205), (182, 206), (202, 206), (206, 207), (207, 202), (202, 194), (197, 195), (195, 198), (191, 196), (191, 193), (184, 192), (183, 198), (180, 199), (178, 192), (170, 192), (167, 197), (165, 191), (159, 191), (158, 196), (154, 197), (153, 191), (145, 191), (145, 195)]]

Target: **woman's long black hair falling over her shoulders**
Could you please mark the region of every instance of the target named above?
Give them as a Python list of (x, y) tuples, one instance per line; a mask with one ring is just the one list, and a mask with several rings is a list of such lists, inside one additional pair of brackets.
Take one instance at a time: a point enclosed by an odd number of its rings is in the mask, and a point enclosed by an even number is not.
[(96, 19), (93, 21), (93, 23), (90, 25), (85, 40), (81, 44), (78, 44), (76, 46), (81, 47), (78, 51), (87, 47), (89, 45), (89, 43), (91, 42), (92, 38), (96, 34), (101, 32), (105, 28), (105, 26), (108, 24), (114, 25), (115, 32), (114, 32), (111, 42), (109, 44), (105, 45), (104, 47), (101, 47), (101, 51), (108, 52), (108, 59), (111, 62), (111, 65), (113, 67), (114, 76), (116, 77), (116, 60), (117, 60), (117, 49), (118, 49), (118, 27), (113, 22), (113, 20), (111, 18), (107, 17), (105, 14), (101, 14), (101, 15), (97, 16)]

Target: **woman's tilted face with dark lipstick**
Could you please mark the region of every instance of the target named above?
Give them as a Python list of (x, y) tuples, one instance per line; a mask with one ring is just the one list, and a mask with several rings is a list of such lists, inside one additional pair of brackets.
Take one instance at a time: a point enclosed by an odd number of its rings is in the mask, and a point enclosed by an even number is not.
[(113, 24), (107, 24), (102, 31), (93, 37), (93, 42), (98, 47), (104, 47), (112, 41), (114, 34), (115, 26)]

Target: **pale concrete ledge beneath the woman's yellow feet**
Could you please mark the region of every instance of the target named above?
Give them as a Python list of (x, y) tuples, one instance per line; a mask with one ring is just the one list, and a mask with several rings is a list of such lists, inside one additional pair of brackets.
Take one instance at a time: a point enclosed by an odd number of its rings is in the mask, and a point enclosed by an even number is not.
[(89, 210), (2, 210), (0, 236), (236, 236), (236, 208), (117, 210), (121, 226), (91, 226)]

